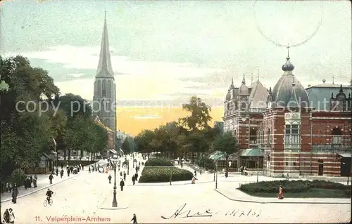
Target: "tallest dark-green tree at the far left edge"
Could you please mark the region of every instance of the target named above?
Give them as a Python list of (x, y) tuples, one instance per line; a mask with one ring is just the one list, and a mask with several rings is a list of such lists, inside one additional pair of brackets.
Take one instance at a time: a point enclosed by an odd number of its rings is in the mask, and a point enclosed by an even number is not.
[[(30, 61), (20, 55), (6, 60), (0, 56), (0, 74), (1, 81), (9, 87), (0, 90), (0, 169), (6, 176), (16, 167), (32, 166), (50, 147), (49, 115), (40, 114), (38, 106), (40, 101), (58, 94), (59, 90), (45, 70), (32, 67)], [(21, 100), (24, 103), (20, 103)], [(31, 112), (25, 108), (25, 103), (30, 101)]]

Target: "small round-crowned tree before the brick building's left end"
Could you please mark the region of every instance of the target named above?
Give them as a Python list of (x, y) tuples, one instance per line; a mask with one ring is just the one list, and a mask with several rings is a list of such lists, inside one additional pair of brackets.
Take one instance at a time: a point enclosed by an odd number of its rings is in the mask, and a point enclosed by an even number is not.
[(215, 138), (213, 142), (214, 150), (223, 152), (226, 158), (226, 177), (228, 176), (229, 169), (229, 156), (234, 152), (239, 152), (237, 146), (237, 139), (231, 132), (224, 133), (222, 136)]

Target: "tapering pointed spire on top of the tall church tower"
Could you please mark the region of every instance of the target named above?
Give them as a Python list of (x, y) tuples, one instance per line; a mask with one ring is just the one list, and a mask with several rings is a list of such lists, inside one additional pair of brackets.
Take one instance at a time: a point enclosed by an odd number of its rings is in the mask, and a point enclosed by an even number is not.
[(106, 11), (104, 12), (103, 35), (101, 37), (99, 64), (96, 70), (96, 78), (113, 78), (111, 56), (108, 41), (108, 25), (106, 24)]

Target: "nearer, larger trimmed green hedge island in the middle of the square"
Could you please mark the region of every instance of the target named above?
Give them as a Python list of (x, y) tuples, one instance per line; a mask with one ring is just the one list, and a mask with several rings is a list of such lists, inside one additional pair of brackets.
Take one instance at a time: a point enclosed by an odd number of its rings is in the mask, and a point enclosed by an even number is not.
[[(172, 173), (172, 175), (170, 175)], [(139, 183), (163, 183), (169, 182), (170, 176), (172, 181), (191, 180), (193, 173), (185, 169), (174, 166), (156, 167), (146, 166), (139, 178)]]

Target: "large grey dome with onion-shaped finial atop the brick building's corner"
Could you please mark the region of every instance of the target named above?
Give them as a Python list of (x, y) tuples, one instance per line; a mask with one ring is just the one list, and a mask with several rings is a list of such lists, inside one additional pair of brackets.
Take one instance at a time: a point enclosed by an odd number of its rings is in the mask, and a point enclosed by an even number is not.
[(284, 74), (272, 89), (272, 98), (275, 106), (308, 107), (308, 94), (306, 89), (295, 79), (294, 74), (292, 74), (294, 65), (289, 62), (288, 54), (286, 63), (282, 65), (282, 70), (284, 70)]

